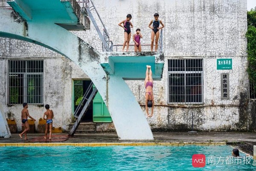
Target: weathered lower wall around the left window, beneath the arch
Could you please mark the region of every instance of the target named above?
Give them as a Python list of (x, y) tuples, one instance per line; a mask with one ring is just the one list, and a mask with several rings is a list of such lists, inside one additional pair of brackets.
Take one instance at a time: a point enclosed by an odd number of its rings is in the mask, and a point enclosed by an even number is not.
[[(36, 45), (31, 43), (26, 43), (20, 41), (20, 44), (26, 44), (26, 46), (30, 46), (31, 49), (35, 48)], [(23, 109), (22, 104), (20, 105), (7, 105), (7, 63), (8, 60), (37, 60), (44, 59), (44, 105), (49, 104), (50, 108), (54, 112), (54, 122), (53, 126), (55, 128), (62, 127), (64, 130), (68, 129), (68, 124), (71, 123), (72, 119), (72, 79), (74, 78), (87, 78), (87, 75), (74, 64), (72, 61), (65, 57), (47, 57), (47, 52), (51, 54), (55, 54), (43, 47), (40, 49), (44, 49), (42, 51), (33, 52), (36, 58), (25, 57), (23, 52), (27, 52), (24, 50), (24, 46), (17, 46), (14, 51), (9, 53), (15, 54), (13, 56), (23, 56), (22, 58), (8, 57), (2, 56), (0, 58), (0, 66), (1, 67), (1, 75), (0, 75), (0, 103), (3, 105), (3, 113), (6, 118), (15, 118), (17, 122), (18, 131), (21, 130), (21, 120), (20, 114)], [(24, 51), (23, 51), (24, 50)], [(17, 53), (17, 52), (20, 52)], [(28, 55), (31, 55), (28, 53)], [(56, 56), (58, 54), (55, 54)], [(44, 56), (44, 57), (42, 57)], [(35, 127), (37, 128), (38, 119), (43, 117), (46, 109), (43, 105), (32, 105), (29, 104), (29, 114), (35, 118), (37, 121), (35, 122)]]

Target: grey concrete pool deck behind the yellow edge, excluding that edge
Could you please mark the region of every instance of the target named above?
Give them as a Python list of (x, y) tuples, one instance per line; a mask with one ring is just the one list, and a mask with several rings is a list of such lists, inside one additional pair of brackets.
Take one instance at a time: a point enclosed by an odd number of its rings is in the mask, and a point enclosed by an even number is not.
[[(67, 133), (54, 133), (52, 135), (67, 136)], [(115, 132), (104, 133), (88, 133), (88, 134), (75, 134), (65, 141), (47, 141), (42, 143), (238, 143), (250, 142), (256, 145), (256, 133), (253, 132), (153, 132), (154, 140), (119, 140)], [(28, 139), (20, 139), (18, 133), (12, 133), (12, 138), (0, 138), (1, 144), (8, 143), (40, 143), (31, 142), (30, 140), (36, 137), (43, 137), (43, 133), (28, 133)], [(48, 134), (49, 136), (49, 134)], [(52, 138), (54, 139), (54, 137)]]

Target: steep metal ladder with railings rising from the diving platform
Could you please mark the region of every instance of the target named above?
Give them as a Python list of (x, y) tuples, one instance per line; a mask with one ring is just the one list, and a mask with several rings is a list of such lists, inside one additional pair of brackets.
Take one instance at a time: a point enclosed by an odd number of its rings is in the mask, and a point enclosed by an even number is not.
[[(92, 0), (77, 0), (77, 2), (82, 7), (82, 11), (85, 9), (87, 14), (89, 15), (89, 18), (92, 21), (92, 23), (99, 35), (99, 38), (102, 41), (102, 51), (103, 52), (104, 51), (107, 51), (107, 52), (113, 51), (113, 42), (110, 40), (108, 31), (107, 31), (101, 17), (99, 16), (99, 13), (93, 4), (93, 1)], [(100, 20), (100, 23), (103, 26), (103, 33), (100, 31), (99, 26), (97, 25), (96, 20), (93, 17), (93, 14), (92, 14), (93, 10), (96, 12), (96, 14)]]

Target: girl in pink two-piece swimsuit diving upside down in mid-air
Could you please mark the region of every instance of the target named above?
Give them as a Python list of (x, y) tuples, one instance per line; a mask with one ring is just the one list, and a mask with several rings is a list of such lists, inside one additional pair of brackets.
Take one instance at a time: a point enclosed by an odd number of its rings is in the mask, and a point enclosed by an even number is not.
[[(154, 95), (153, 95), (153, 78), (152, 78), (152, 71), (151, 71), (151, 66), (147, 65), (147, 70), (146, 70), (146, 77), (145, 77), (145, 88), (146, 88), (146, 93), (145, 93), (145, 110), (147, 113), (148, 117), (153, 116), (153, 111), (154, 111)], [(151, 114), (148, 113), (148, 107), (151, 108)]]

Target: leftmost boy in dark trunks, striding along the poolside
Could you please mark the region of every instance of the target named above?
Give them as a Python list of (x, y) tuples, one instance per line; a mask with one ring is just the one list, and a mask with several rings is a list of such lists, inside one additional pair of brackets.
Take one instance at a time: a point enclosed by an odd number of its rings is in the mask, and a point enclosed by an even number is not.
[(28, 122), (28, 117), (33, 119), (33, 121), (35, 121), (34, 118), (32, 118), (32, 116), (29, 115), (29, 110), (27, 110), (28, 108), (28, 104), (27, 103), (23, 103), (23, 110), (21, 110), (21, 122), (22, 125), (24, 126), (25, 129), (22, 133), (19, 134), (20, 138), (22, 139), (22, 135), (25, 134), (25, 140), (27, 140), (27, 136), (26, 136), (26, 132), (29, 131), (29, 122)]

